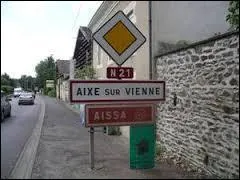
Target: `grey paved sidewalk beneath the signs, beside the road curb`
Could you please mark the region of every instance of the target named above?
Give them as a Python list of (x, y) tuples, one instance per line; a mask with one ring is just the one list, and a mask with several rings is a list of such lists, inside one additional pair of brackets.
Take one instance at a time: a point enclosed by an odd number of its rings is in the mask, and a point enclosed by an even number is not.
[(34, 179), (186, 179), (175, 167), (156, 163), (155, 168), (129, 168), (129, 145), (123, 136), (96, 132), (94, 136), (95, 167), (89, 167), (89, 132), (82, 127), (79, 114), (70, 105), (49, 97), (36, 159)]

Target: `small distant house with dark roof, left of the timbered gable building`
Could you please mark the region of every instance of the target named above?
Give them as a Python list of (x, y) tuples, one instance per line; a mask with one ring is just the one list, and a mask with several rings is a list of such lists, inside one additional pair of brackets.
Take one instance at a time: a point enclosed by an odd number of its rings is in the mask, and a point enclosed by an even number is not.
[(56, 96), (58, 99), (68, 101), (69, 96), (69, 72), (70, 72), (70, 61), (69, 60), (57, 60), (56, 61)]

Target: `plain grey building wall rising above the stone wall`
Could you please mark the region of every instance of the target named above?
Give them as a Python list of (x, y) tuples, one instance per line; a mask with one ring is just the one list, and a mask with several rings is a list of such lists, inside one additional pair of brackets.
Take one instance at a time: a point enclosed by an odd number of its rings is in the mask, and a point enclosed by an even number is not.
[[(152, 1), (153, 54), (159, 43), (190, 43), (225, 33), (229, 1)], [(162, 52), (162, 51), (161, 51)]]

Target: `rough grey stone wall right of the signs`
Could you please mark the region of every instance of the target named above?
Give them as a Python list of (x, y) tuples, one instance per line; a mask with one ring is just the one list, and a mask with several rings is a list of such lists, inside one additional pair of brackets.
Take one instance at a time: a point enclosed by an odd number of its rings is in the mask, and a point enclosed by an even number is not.
[(157, 143), (225, 178), (239, 177), (239, 36), (228, 33), (156, 58), (166, 81)]

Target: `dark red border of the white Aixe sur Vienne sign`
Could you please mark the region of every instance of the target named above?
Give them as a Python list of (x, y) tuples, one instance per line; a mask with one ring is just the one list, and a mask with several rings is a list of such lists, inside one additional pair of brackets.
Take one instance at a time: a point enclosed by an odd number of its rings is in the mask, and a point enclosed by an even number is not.
[[(162, 99), (119, 99), (119, 100), (72, 100), (72, 84), (74, 83), (163, 83), (163, 98)], [(70, 92), (69, 92), (69, 100), (70, 103), (96, 103), (96, 102), (156, 102), (156, 101), (165, 101), (165, 81), (157, 81), (157, 80), (70, 80)]]

